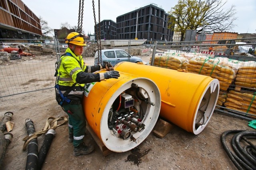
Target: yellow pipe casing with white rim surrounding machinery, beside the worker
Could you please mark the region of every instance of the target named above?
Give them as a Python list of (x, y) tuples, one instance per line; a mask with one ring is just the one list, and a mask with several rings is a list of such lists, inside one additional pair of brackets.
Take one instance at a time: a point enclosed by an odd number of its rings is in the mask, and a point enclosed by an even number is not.
[[(132, 94), (132, 90), (136, 89), (131, 88), (132, 84), (137, 84), (143, 95), (155, 104), (152, 106), (141, 102), (141, 104), (144, 104), (141, 105), (141, 107), (144, 107), (144, 116), (141, 122), (145, 124), (145, 129), (142, 132), (132, 132), (136, 141), (121, 139), (113, 133), (108, 125), (110, 109), (113, 108), (114, 101), (119, 99), (123, 92)], [(138, 146), (152, 131), (160, 112), (160, 91), (156, 84), (148, 78), (120, 72), (118, 79), (112, 78), (102, 82), (86, 84), (83, 106), (88, 124), (104, 145), (114, 152), (125, 152)], [(117, 131), (118, 129), (114, 130)]]

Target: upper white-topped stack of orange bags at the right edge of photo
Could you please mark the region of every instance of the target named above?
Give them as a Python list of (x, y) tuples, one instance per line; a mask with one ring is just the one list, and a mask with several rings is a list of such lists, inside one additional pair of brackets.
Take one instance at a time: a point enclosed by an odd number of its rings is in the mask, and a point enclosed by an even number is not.
[(256, 62), (245, 62), (244, 66), (238, 68), (235, 85), (244, 88), (256, 88)]

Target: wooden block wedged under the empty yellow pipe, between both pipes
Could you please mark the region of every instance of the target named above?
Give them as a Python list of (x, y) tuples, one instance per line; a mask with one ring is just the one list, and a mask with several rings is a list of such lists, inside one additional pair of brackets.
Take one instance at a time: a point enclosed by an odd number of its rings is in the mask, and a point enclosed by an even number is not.
[(172, 129), (173, 129), (173, 125), (171, 125), (167, 121), (164, 121), (163, 119), (159, 119), (158, 122), (156, 123), (156, 127), (155, 127), (154, 131), (152, 131), (152, 132), (154, 133), (154, 135), (156, 135), (157, 137), (160, 137), (162, 139)]

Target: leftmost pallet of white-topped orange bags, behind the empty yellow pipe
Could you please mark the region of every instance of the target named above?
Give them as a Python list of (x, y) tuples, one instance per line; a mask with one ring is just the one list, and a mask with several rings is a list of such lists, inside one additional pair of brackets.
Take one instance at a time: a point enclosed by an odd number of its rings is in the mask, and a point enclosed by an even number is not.
[[(150, 63), (151, 60), (152, 58), (150, 57)], [(170, 55), (169, 53), (156, 53), (153, 65), (177, 70), (179, 68), (186, 68), (187, 63), (188, 59), (184, 57)]]

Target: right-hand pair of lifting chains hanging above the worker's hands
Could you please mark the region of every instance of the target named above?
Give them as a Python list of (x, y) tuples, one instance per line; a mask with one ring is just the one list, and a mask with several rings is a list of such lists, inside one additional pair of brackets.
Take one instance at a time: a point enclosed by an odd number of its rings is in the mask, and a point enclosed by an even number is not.
[[(95, 16), (94, 0), (92, 0), (92, 9), (93, 9), (93, 16), (94, 16), (94, 24), (96, 27), (97, 23), (96, 23), (96, 16)], [(98, 59), (99, 59), (99, 63), (101, 63), (102, 57), (101, 57), (101, 41), (100, 41), (100, 0), (99, 0), (99, 22), (98, 22), (98, 25), (99, 25), (98, 29), (96, 27), (96, 37), (97, 37)]]

